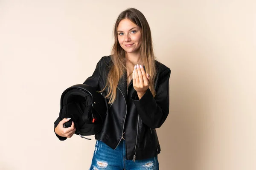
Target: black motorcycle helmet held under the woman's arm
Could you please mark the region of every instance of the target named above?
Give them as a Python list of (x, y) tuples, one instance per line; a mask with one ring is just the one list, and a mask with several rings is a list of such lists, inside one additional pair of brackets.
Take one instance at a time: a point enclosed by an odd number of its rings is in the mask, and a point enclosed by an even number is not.
[(107, 102), (101, 93), (89, 85), (78, 84), (67, 88), (61, 95), (60, 119), (71, 118), (63, 124), (70, 127), (75, 124), (75, 134), (95, 135), (102, 129), (107, 113)]

